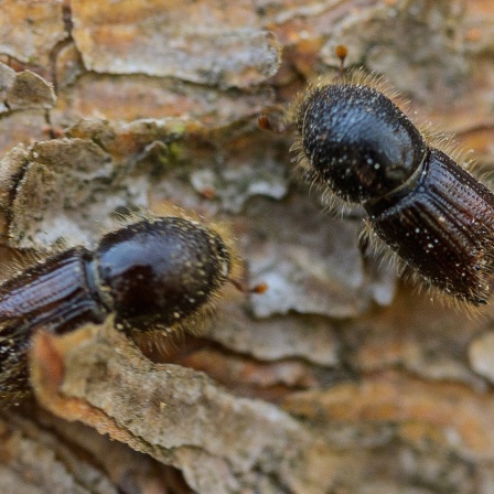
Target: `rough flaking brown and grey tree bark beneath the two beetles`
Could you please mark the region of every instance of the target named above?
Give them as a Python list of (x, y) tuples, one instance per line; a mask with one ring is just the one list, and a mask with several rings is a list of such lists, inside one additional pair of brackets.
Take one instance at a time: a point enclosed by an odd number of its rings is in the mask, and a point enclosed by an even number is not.
[(291, 133), (257, 128), (346, 44), (488, 170), (492, 2), (0, 10), (3, 245), (90, 243), (115, 212), (175, 204), (227, 223), (269, 284), (164, 356), (111, 322), (40, 334), (36, 402), (0, 420), (2, 492), (494, 491), (493, 304), (470, 318), (397, 281), (362, 254), (359, 212), (324, 214), (293, 175)]

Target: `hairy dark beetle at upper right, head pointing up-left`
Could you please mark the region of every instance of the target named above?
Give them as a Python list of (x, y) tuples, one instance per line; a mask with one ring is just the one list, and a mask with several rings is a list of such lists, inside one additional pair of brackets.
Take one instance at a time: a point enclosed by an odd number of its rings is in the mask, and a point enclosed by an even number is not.
[(386, 245), (432, 293), (484, 304), (494, 286), (494, 194), (459, 164), (449, 139), (419, 130), (401, 106), (362, 69), (310, 84), (291, 108), (299, 168), (329, 202), (361, 205), (376, 250)]

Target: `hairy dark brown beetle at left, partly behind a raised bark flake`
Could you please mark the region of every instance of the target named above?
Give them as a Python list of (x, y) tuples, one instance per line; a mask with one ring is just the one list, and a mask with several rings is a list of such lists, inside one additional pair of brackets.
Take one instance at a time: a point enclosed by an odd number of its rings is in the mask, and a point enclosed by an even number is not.
[[(243, 270), (222, 228), (187, 217), (133, 217), (94, 248), (72, 247), (0, 286), (0, 406), (30, 391), (33, 333), (64, 334), (112, 316), (136, 339), (204, 324)], [(254, 290), (260, 292), (261, 289)]]

